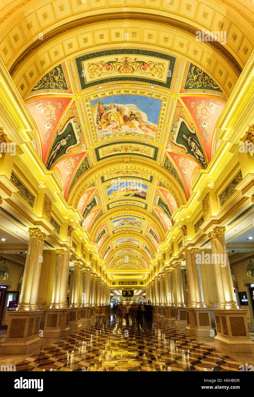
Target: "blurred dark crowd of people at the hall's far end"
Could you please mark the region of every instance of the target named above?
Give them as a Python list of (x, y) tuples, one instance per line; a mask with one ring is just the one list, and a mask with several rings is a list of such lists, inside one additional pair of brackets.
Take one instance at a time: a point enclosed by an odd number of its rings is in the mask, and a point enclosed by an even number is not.
[(124, 305), (122, 303), (114, 304), (113, 310), (118, 313), (119, 318), (125, 318), (126, 324), (131, 319), (136, 321), (138, 328), (143, 328), (143, 320), (151, 326), (153, 317), (153, 308), (149, 304), (132, 303), (128, 302)]

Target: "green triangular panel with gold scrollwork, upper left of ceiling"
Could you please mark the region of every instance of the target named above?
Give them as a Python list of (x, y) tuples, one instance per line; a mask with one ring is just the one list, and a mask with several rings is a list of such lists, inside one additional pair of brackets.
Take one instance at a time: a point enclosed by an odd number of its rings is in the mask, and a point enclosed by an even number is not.
[(61, 65), (56, 66), (54, 69), (50, 70), (32, 89), (33, 91), (38, 90), (67, 90), (67, 83), (63, 74), (63, 69)]

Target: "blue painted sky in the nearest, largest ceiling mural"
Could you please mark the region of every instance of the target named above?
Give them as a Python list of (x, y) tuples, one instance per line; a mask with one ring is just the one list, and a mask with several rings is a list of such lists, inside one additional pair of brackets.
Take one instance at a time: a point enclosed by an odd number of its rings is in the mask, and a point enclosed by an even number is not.
[[(97, 101), (98, 99), (92, 100), (92, 106)], [(105, 98), (99, 98), (99, 101), (105, 105), (110, 105), (111, 103), (136, 105), (142, 112), (145, 112), (147, 114), (147, 118), (149, 121), (158, 124), (161, 105), (160, 99), (147, 98), (147, 96), (141, 95), (113, 95), (106, 96)]]

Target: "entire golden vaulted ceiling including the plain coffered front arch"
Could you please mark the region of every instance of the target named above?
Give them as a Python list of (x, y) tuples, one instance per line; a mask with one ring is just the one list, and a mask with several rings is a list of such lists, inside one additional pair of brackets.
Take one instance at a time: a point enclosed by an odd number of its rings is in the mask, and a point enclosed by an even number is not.
[[(220, 145), (216, 121), (253, 50), (244, 4), (56, 0), (1, 10), (0, 53), (38, 126), (34, 149), (109, 271), (149, 268)], [(225, 31), (226, 43), (196, 40), (202, 29)]]

